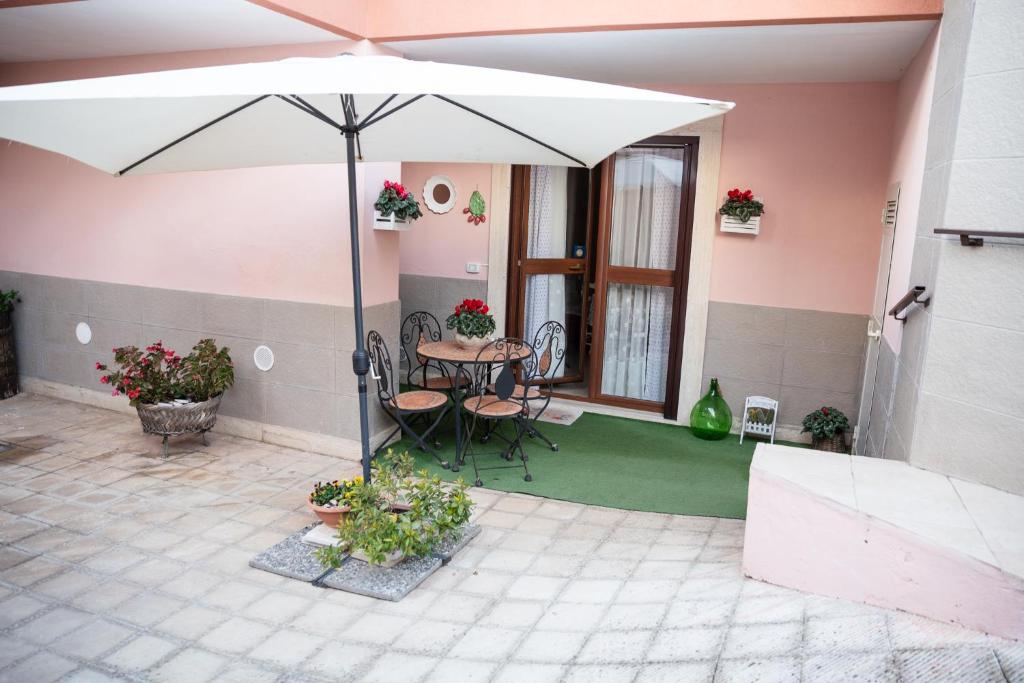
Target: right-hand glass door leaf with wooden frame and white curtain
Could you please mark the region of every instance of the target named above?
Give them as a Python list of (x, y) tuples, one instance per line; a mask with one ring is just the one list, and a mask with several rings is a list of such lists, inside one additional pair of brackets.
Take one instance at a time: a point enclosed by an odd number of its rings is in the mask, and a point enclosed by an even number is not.
[(678, 408), (695, 152), (684, 137), (621, 150), (605, 162), (601, 193), (598, 395), (670, 418)]

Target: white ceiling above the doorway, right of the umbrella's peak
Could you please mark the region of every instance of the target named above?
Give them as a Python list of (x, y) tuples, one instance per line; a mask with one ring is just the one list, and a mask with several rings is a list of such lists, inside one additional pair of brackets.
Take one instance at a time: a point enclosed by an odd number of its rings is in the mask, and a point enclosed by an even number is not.
[(610, 83), (895, 81), (925, 22), (599, 31), (386, 43), (407, 57)]

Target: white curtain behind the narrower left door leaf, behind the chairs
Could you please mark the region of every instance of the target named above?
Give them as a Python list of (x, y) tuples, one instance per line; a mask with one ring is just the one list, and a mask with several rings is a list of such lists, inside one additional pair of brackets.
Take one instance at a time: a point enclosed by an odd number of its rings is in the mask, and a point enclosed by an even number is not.
[[(529, 224), (526, 258), (565, 258), (568, 169), (532, 166), (529, 170)], [(565, 325), (565, 276), (527, 275), (523, 338), (532, 341), (548, 321)], [(564, 374), (564, 365), (556, 376)]]

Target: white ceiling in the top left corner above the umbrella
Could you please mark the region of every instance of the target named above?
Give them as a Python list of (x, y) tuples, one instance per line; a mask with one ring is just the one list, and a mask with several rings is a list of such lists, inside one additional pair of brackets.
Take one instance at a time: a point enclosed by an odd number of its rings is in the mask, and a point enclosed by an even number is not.
[(0, 6), (0, 61), (339, 40), (247, 0), (84, 0)]

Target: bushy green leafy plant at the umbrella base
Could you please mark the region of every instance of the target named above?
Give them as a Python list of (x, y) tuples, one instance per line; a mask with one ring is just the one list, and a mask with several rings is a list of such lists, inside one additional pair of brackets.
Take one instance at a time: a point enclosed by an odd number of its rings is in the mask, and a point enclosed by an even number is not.
[(395, 552), (424, 557), (465, 525), (473, 508), (465, 482), (445, 485), (426, 470), (418, 474), (409, 453), (388, 450), (374, 461), (372, 483), (359, 479), (345, 494), (351, 510), (338, 528), (340, 544), (319, 548), (321, 562), (337, 568), (346, 551), (360, 551), (372, 564)]

